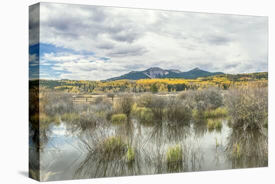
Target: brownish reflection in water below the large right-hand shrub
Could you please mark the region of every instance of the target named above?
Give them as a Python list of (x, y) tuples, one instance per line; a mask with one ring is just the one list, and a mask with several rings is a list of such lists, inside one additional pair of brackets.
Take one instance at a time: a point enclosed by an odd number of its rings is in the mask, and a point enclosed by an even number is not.
[(232, 168), (267, 166), (267, 131), (231, 129), (225, 146), (225, 159)]

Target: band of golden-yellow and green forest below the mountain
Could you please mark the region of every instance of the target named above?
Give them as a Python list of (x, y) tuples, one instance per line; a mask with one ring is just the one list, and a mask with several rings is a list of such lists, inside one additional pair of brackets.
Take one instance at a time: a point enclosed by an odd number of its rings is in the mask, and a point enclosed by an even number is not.
[[(267, 86), (268, 73), (222, 74), (196, 79), (140, 79), (116, 81), (85, 81), (85, 80), (40, 80), (40, 87), (56, 92), (68, 93), (117, 93), (117, 92), (176, 92), (199, 88), (215, 87), (227, 90), (240, 85), (255, 84)], [(30, 86), (37, 81), (30, 81)], [(33, 84), (32, 84), (33, 83)]]

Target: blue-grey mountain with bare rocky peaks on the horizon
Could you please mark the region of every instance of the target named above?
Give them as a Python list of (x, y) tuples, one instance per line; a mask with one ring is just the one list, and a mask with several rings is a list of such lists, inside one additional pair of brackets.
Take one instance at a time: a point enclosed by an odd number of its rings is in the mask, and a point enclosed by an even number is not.
[(180, 70), (170, 69), (163, 70), (159, 67), (152, 67), (143, 71), (131, 71), (127, 74), (123, 74), (119, 77), (109, 78), (105, 81), (114, 81), (121, 79), (130, 79), (130, 80), (138, 80), (138, 79), (152, 79), (152, 78), (184, 78), (184, 79), (195, 79), (197, 77), (207, 77), (213, 75), (224, 74), (222, 72), (208, 72), (205, 70), (200, 70), (199, 68), (194, 68), (187, 72), (181, 72)]

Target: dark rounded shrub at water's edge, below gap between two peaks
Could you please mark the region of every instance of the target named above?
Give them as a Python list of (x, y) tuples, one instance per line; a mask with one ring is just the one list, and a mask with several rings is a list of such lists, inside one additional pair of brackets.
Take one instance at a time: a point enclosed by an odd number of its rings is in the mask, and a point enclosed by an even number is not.
[(166, 117), (170, 122), (183, 123), (189, 121), (191, 109), (184, 100), (169, 98), (167, 101)]

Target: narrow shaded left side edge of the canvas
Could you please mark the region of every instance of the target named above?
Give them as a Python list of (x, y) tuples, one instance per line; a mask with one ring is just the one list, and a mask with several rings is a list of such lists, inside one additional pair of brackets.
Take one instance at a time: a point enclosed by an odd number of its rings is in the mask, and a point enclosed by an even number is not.
[(28, 10), (28, 175), (40, 180), (39, 166), (39, 3)]

